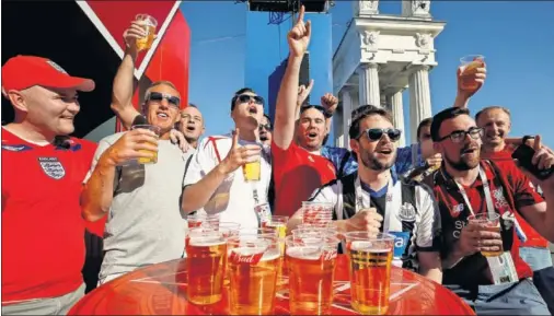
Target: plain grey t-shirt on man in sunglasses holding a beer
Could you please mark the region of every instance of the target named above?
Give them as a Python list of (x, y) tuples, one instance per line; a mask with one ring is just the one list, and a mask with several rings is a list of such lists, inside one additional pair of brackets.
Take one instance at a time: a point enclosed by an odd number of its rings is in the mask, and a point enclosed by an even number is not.
[[(123, 134), (100, 141), (90, 174), (102, 153)], [(131, 162), (117, 168), (104, 232), (101, 282), (145, 265), (181, 258), (186, 230), (181, 194), (188, 156), (171, 141), (160, 140), (158, 163)]]

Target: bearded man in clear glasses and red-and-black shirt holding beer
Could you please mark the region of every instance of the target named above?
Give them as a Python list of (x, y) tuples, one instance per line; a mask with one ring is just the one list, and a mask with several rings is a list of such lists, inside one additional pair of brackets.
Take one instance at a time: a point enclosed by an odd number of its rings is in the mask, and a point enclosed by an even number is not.
[[(466, 108), (447, 108), (432, 118), (431, 137), (442, 167), (430, 184), (439, 202), (445, 243), (442, 283), (475, 308), (477, 315), (547, 315), (519, 255), (513, 213), (520, 213), (542, 236), (554, 241), (554, 177), (535, 179), (546, 202), (512, 162), (481, 160), (483, 129)], [(533, 162), (554, 165), (554, 155), (535, 142)], [(529, 175), (529, 174), (528, 174)], [(499, 218), (495, 231), (470, 215)], [(487, 255), (499, 253), (500, 255)], [(552, 294), (551, 294), (552, 295)]]

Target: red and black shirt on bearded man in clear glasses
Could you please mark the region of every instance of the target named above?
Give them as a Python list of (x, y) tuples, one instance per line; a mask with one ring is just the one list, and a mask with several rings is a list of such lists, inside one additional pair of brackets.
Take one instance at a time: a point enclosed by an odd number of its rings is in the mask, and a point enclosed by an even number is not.
[[(490, 196), (495, 211), (503, 218), (510, 213), (517, 213), (522, 207), (543, 201), (541, 196), (530, 185), (529, 179), (513, 163), (498, 162), (496, 163), (496, 169), (488, 162), (482, 161), (481, 165), (490, 186)], [(439, 202), (445, 237), (443, 245), (446, 248), (442, 249), (442, 253), (447, 254), (450, 247), (457, 243), (460, 232), (468, 224), (468, 216), (471, 213), (455, 183), (448, 175), (446, 177), (443, 175), (446, 175), (446, 171), (443, 169), (436, 173), (434, 191)], [(470, 187), (465, 187), (464, 190), (475, 213), (487, 211), (481, 177), (477, 177), (475, 183)], [(504, 220), (500, 223), (504, 250), (510, 250), (519, 278), (532, 277), (533, 272), (531, 268), (519, 256), (521, 243), (513, 225)], [(478, 284), (490, 284), (487, 272), (487, 261), (485, 257), (477, 253), (464, 258), (452, 269), (445, 270), (443, 283), (470, 288)]]

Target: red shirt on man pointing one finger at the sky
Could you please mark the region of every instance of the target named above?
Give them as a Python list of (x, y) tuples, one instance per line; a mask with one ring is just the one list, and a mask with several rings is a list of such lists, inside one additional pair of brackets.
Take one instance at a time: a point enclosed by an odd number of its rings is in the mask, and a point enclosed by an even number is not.
[(321, 186), (335, 179), (335, 166), (295, 142), (287, 150), (272, 142), (275, 215), (291, 216)]

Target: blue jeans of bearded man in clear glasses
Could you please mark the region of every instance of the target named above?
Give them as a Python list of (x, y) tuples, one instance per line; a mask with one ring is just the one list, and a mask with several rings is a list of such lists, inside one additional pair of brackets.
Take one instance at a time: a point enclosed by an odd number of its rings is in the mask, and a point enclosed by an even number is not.
[(469, 291), (457, 285), (446, 286), (461, 296), (480, 316), (551, 315), (531, 279), (523, 279), (511, 284), (480, 285), (476, 297), (471, 299)]

